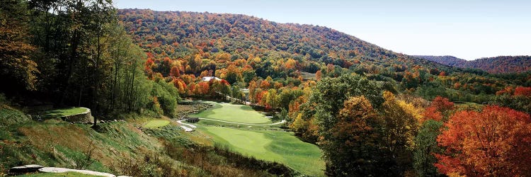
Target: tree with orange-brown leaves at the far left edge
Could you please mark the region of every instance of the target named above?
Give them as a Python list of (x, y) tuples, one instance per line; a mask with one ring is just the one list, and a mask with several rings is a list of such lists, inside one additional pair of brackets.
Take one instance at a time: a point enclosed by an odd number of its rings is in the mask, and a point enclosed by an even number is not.
[(37, 64), (31, 59), (36, 47), (28, 34), (27, 2), (8, 0), (0, 4), (0, 82), (10, 83), (2, 91), (35, 90)]

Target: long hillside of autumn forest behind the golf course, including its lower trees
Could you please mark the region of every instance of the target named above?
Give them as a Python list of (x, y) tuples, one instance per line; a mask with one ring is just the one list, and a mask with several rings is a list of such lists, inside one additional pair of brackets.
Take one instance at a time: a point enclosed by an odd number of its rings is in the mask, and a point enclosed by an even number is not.
[[(209, 90), (212, 84), (207, 86), (200, 78), (217, 76), (230, 87), (216, 86), (218, 92), (240, 98), (244, 93), (234, 90), (249, 89), (249, 101), (278, 108), (267, 103), (265, 93), (278, 96), (294, 86), (300, 90), (312, 86), (304, 81), (356, 73), (384, 81), (389, 89), (409, 89), (428, 99), (445, 96), (483, 103), (508, 85), (530, 80), (448, 67), (318, 25), (275, 23), (229, 13), (144, 9), (120, 9), (118, 18), (133, 42), (147, 53), (148, 78), (173, 83), (182, 97), (215, 95)], [(476, 96), (479, 93), (484, 94)], [(280, 108), (287, 109), (294, 98), (285, 99)]]

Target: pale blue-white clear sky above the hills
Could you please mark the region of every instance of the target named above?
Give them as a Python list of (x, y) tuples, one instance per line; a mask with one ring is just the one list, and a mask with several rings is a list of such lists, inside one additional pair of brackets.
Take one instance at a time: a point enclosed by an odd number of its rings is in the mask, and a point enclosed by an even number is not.
[(117, 8), (239, 13), (321, 25), (406, 55), (531, 55), (531, 1), (115, 0)]

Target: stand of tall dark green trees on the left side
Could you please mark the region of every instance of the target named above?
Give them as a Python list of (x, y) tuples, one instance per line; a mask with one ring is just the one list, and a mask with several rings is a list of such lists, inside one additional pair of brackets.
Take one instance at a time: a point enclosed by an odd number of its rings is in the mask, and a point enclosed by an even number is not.
[(173, 115), (173, 84), (148, 79), (112, 1), (8, 0), (0, 5), (1, 91), (32, 105), (91, 108), (97, 117), (120, 113)]

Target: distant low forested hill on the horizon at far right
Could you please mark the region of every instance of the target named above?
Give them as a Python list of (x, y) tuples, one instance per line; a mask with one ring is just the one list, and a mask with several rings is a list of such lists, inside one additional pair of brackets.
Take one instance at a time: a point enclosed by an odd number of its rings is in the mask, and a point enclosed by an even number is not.
[(452, 67), (482, 69), (490, 73), (527, 72), (531, 70), (530, 56), (500, 56), (467, 61), (453, 56), (416, 56)]

